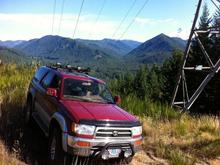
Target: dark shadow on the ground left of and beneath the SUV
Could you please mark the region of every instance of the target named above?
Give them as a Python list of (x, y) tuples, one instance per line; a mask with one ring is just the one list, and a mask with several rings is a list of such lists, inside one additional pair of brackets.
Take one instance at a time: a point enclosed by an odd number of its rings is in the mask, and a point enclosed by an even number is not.
[[(37, 123), (31, 121), (28, 125), (24, 122), (25, 108), (7, 104), (0, 111), (0, 137), (9, 151), (29, 165), (46, 165), (48, 138), (45, 137)], [(22, 110), (23, 109), (23, 110)], [(112, 165), (119, 164), (115, 161), (100, 161), (95, 159), (77, 158), (77, 163), (82, 165)]]

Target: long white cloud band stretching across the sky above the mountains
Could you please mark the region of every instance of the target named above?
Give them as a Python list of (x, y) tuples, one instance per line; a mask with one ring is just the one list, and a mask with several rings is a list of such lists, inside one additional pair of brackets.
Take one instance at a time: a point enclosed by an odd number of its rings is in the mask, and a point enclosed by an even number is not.
[[(77, 16), (78, 15), (64, 13), (59, 32), (60, 14), (56, 14), (53, 35), (72, 38)], [(0, 40), (29, 40), (52, 34), (52, 18), (52, 14), (0, 13)], [(103, 18), (103, 16), (100, 17), (97, 24), (95, 24), (95, 20), (96, 15), (82, 15), (80, 17), (75, 38), (111, 38), (113, 32), (120, 23), (120, 20), (111, 20), (110, 18)], [(116, 39), (118, 39), (117, 37), (124, 32), (127, 23), (124, 23), (119, 29)], [(177, 29), (181, 26), (183, 26), (183, 31), (178, 34)], [(181, 23), (178, 23), (172, 18), (158, 20), (138, 17), (122, 39), (133, 39), (143, 42), (160, 33), (165, 33), (171, 36), (179, 35), (186, 39), (189, 34), (187, 26), (181, 25)]]

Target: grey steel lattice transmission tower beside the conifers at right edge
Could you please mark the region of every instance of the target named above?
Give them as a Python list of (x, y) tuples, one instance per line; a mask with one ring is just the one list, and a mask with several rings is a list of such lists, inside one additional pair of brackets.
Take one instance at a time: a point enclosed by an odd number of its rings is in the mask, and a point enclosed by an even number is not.
[[(210, 0), (210, 1), (220, 11), (220, 8), (219, 8), (220, 0), (215, 0), (215, 1)], [(202, 6), (202, 2), (203, 2), (203, 0), (199, 0), (198, 5), (197, 5), (197, 9), (196, 9), (194, 21), (193, 21), (193, 24), (192, 24), (191, 32), (190, 32), (189, 39), (188, 39), (188, 42), (187, 42), (187, 46), (186, 46), (186, 49), (185, 49), (185, 52), (184, 52), (183, 64), (182, 64), (182, 67), (181, 67), (181, 73), (180, 73), (180, 76), (178, 78), (177, 85), (175, 87), (174, 94), (173, 94), (173, 99), (172, 99), (172, 106), (180, 106), (183, 110), (189, 110), (190, 109), (190, 107), (193, 105), (193, 103), (199, 97), (199, 95), (204, 90), (204, 88), (209, 83), (209, 81), (220, 70), (220, 54), (219, 54), (219, 58), (218, 58), (217, 62), (213, 63), (213, 61), (210, 58), (210, 55), (208, 54), (206, 48), (204, 47), (202, 41), (199, 39), (199, 35), (200, 34), (205, 34), (205, 33), (214, 34), (214, 35), (219, 37), (220, 36), (220, 28), (219, 27), (218, 28), (216, 28), (216, 27), (213, 28), (212, 27), (212, 28), (209, 28), (209, 29), (206, 29), (206, 30), (196, 28), (199, 13), (200, 13), (200, 9), (201, 9), (201, 6)], [(192, 42), (194, 40), (197, 41), (197, 43), (199, 45), (199, 48), (201, 49), (201, 52), (202, 52), (203, 56), (205, 57), (207, 66), (203, 66), (203, 64), (196, 65), (196, 66), (187, 66), (186, 65), (187, 61), (189, 60), (189, 53), (190, 53), (190, 49), (191, 49), (191, 46), (192, 46)], [(193, 94), (191, 96), (189, 96), (187, 83), (190, 82), (190, 81), (193, 81), (193, 80), (187, 80), (186, 81), (186, 71), (205, 72), (206, 73), (206, 77), (201, 81), (200, 85), (197, 87), (197, 89), (195, 89), (195, 91), (193, 92)], [(180, 98), (177, 98), (177, 95)]]

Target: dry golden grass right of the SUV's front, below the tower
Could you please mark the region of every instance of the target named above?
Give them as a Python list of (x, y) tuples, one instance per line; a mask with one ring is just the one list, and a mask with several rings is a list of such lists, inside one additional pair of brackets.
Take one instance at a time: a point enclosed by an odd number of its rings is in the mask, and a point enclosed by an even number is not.
[(220, 127), (215, 117), (184, 114), (170, 121), (145, 117), (142, 123), (145, 151), (153, 151), (169, 164), (204, 163), (220, 156)]

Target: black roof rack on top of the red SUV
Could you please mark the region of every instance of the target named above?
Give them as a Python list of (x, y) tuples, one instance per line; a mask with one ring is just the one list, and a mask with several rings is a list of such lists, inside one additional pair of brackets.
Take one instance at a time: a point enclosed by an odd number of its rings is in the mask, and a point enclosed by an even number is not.
[(88, 68), (82, 68), (80, 66), (71, 66), (71, 65), (62, 65), (61, 63), (56, 63), (53, 65), (48, 66), (51, 69), (56, 69), (56, 70), (60, 70), (60, 71), (65, 71), (65, 72), (78, 72), (78, 73), (85, 73), (85, 74), (89, 74), (89, 72), (91, 71), (91, 69)]

